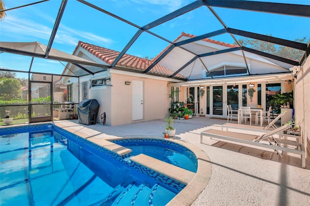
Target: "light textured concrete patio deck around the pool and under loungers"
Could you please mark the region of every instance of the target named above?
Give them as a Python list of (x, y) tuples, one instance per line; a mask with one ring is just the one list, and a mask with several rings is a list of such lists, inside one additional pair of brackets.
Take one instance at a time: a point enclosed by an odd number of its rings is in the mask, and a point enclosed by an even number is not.
[[(214, 139), (204, 138), (200, 143), (200, 132), (220, 129), (227, 120), (194, 117), (175, 120), (176, 136), (172, 139), (201, 148), (211, 164), (211, 175), (194, 202), (179, 202), (181, 205), (310, 205), (310, 161), (307, 169), (301, 168), (301, 158), (284, 154), (280, 158), (274, 151), (246, 147)], [(87, 135), (88, 138), (114, 137), (162, 137), (165, 122), (162, 119), (122, 126), (79, 125), (78, 120), (56, 121), (68, 130)], [(193, 187), (194, 188), (194, 187)], [(182, 191), (181, 191), (182, 192)], [(180, 193), (181, 193), (180, 192)], [(180, 194), (179, 193), (179, 194)], [(182, 195), (180, 195), (182, 196)], [(182, 198), (180, 199), (182, 200)], [(176, 204), (171, 204), (176, 205)]]

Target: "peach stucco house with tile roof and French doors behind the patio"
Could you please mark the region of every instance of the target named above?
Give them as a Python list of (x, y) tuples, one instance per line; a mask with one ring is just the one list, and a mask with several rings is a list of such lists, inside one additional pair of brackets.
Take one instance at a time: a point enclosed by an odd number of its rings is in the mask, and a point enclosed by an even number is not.
[[(182, 32), (174, 43), (193, 37)], [(152, 61), (125, 54), (113, 68), (79, 79), (63, 76), (62, 82), (67, 84), (68, 98), (73, 102), (96, 99), (100, 104), (97, 121), (100, 122), (100, 114), (105, 112), (107, 125), (111, 126), (164, 118), (169, 114), (171, 90), (180, 90), (174, 100), (187, 103), (197, 116), (217, 117), (227, 117), (227, 104), (236, 108), (260, 104), (266, 109), (268, 95), (292, 90), (286, 81), (292, 79), (288, 64), (248, 52), (243, 56), (240, 50), (191, 61), (195, 55), (186, 48), (199, 55), (236, 46), (203, 39), (182, 47), (185, 49), (175, 47), (167, 54), (168, 46)], [(107, 66), (119, 54), (83, 42), (79, 42), (73, 52), (75, 56)], [(159, 62), (153, 65), (156, 59)], [(78, 66), (69, 63), (62, 74), (74, 75), (80, 71)], [(252, 102), (247, 96), (249, 87), (257, 91)], [(204, 90), (203, 96), (201, 90)]]

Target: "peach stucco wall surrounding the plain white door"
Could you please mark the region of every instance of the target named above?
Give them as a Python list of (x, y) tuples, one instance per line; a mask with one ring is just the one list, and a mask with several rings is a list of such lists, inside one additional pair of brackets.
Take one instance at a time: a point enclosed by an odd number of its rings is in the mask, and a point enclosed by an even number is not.
[(140, 78), (123, 74), (111, 74), (111, 126), (132, 123), (132, 83), (143, 81), (143, 120), (165, 118), (169, 114), (170, 88), (167, 81)]

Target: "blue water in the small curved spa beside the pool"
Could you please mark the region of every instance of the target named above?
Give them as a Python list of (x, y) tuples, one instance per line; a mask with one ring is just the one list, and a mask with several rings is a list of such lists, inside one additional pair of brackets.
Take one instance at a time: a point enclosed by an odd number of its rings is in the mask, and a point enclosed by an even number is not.
[(196, 156), (179, 144), (160, 139), (122, 139), (111, 142), (130, 148), (132, 156), (142, 153), (191, 172), (197, 172)]

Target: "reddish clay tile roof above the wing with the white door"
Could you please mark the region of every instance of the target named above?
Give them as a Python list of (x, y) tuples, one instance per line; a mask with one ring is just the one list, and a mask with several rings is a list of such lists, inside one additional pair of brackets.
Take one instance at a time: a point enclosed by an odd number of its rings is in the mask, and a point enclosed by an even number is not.
[[(104, 48), (104, 47), (101, 47), (101, 46), (97, 46), (97, 45), (93, 45), (93, 44), (84, 43), (84, 42), (81, 42), (81, 41), (78, 42), (78, 46), (81, 46), (82, 48), (84, 48), (85, 50), (89, 51), (94, 56), (96, 56), (97, 58), (105, 61), (108, 64), (112, 64), (113, 61), (120, 54), (120, 52), (118, 52), (118, 51), (114, 51), (114, 50), (107, 49), (107, 48)], [(76, 47), (76, 49), (75, 49), (75, 51), (73, 53), (76, 52), (78, 46)], [(153, 61), (148, 60), (148, 59), (143, 59), (143, 58), (140, 58), (140, 57), (135, 57), (135, 56), (132, 56), (132, 55), (124, 54), (124, 56), (117, 62), (116, 65), (123, 66), (126, 69), (130, 69), (130, 70), (133, 70), (133, 71), (143, 72), (152, 63), (153, 63)], [(148, 74), (164, 75), (164, 76), (167, 76), (167, 77), (172, 75), (173, 73), (174, 73), (173, 71), (171, 71), (171, 70), (167, 69), (166, 67), (163, 67), (163, 66), (161, 66), (159, 64), (156, 64), (148, 72)], [(186, 79), (186, 77), (181, 75), (181, 74), (177, 74), (177, 75), (175, 75), (175, 77), (181, 78), (181, 79)]]

